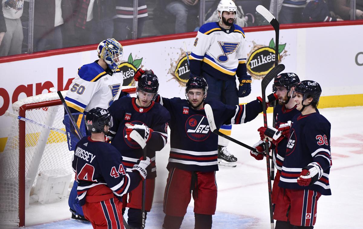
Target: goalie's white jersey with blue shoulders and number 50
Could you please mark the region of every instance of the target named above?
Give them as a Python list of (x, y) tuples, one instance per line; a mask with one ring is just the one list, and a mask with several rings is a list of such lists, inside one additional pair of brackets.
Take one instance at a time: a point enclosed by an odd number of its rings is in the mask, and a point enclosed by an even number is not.
[(120, 96), (122, 83), (120, 69), (111, 76), (95, 61), (78, 69), (78, 76), (64, 99), (69, 107), (79, 112), (95, 107), (107, 109)]

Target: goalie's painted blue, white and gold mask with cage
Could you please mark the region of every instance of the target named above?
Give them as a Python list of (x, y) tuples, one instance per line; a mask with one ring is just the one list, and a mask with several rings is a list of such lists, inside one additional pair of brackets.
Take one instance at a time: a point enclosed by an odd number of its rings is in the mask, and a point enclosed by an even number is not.
[(114, 38), (107, 38), (105, 46), (103, 46), (101, 51), (101, 58), (105, 60), (111, 71), (116, 71), (118, 66), (121, 64), (122, 56), (122, 45)]

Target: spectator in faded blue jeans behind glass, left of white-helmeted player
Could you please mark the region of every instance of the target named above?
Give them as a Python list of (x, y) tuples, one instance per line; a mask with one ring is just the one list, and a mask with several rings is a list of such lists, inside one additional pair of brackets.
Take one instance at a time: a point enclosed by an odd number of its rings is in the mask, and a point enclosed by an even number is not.
[[(175, 17), (175, 33), (193, 31), (197, 25), (187, 28), (188, 18), (197, 18), (199, 14), (199, 0), (165, 0), (166, 12)], [(193, 22), (197, 20), (192, 20)]]

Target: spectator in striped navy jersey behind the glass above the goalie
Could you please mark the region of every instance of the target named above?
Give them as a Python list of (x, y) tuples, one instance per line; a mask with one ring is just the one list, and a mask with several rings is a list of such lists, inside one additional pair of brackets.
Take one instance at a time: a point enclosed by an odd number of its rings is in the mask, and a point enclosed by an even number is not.
[[(132, 39), (133, 37), (133, 15), (134, 0), (116, 0), (116, 18), (114, 20), (114, 38), (117, 40)], [(137, 37), (142, 36), (144, 22), (148, 18), (146, 0), (138, 1), (138, 25)]]

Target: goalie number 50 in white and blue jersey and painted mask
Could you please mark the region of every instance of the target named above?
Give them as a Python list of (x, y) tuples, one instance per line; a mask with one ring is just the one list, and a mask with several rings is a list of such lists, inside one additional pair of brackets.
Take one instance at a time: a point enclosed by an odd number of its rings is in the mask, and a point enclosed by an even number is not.
[[(64, 99), (71, 113), (86, 114), (94, 107), (107, 109), (120, 95), (124, 95), (121, 91), (123, 76), (118, 68), (123, 56), (122, 45), (115, 39), (106, 39), (99, 43), (97, 53), (99, 59), (80, 67), (77, 77), (74, 78), (67, 91)], [(67, 119), (65, 117), (65, 120)], [(79, 120), (82, 120), (82, 117)], [(69, 126), (66, 129), (74, 128)], [(80, 130), (86, 135), (86, 128), (80, 128)], [(72, 131), (70, 132), (72, 135)], [(73, 213), (72, 218), (83, 219), (82, 208), (76, 199), (76, 189), (77, 183), (74, 183), (69, 195), (69, 207)]]

